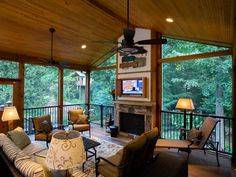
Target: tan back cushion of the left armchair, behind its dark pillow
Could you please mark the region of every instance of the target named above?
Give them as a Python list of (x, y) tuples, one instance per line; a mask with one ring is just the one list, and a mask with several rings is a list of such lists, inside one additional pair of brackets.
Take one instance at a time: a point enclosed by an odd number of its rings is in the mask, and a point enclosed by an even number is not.
[[(48, 126), (48, 131), (52, 131), (53, 127), (52, 127), (52, 122), (51, 122), (51, 116), (50, 115), (45, 115), (45, 116), (40, 116), (40, 117), (34, 117), (32, 119), (33, 121), (33, 125), (34, 125), (34, 129), (36, 130), (36, 133), (39, 133), (37, 132), (37, 130), (42, 130), (42, 122), (47, 122), (47, 126)], [(44, 124), (45, 126), (45, 124)]]

